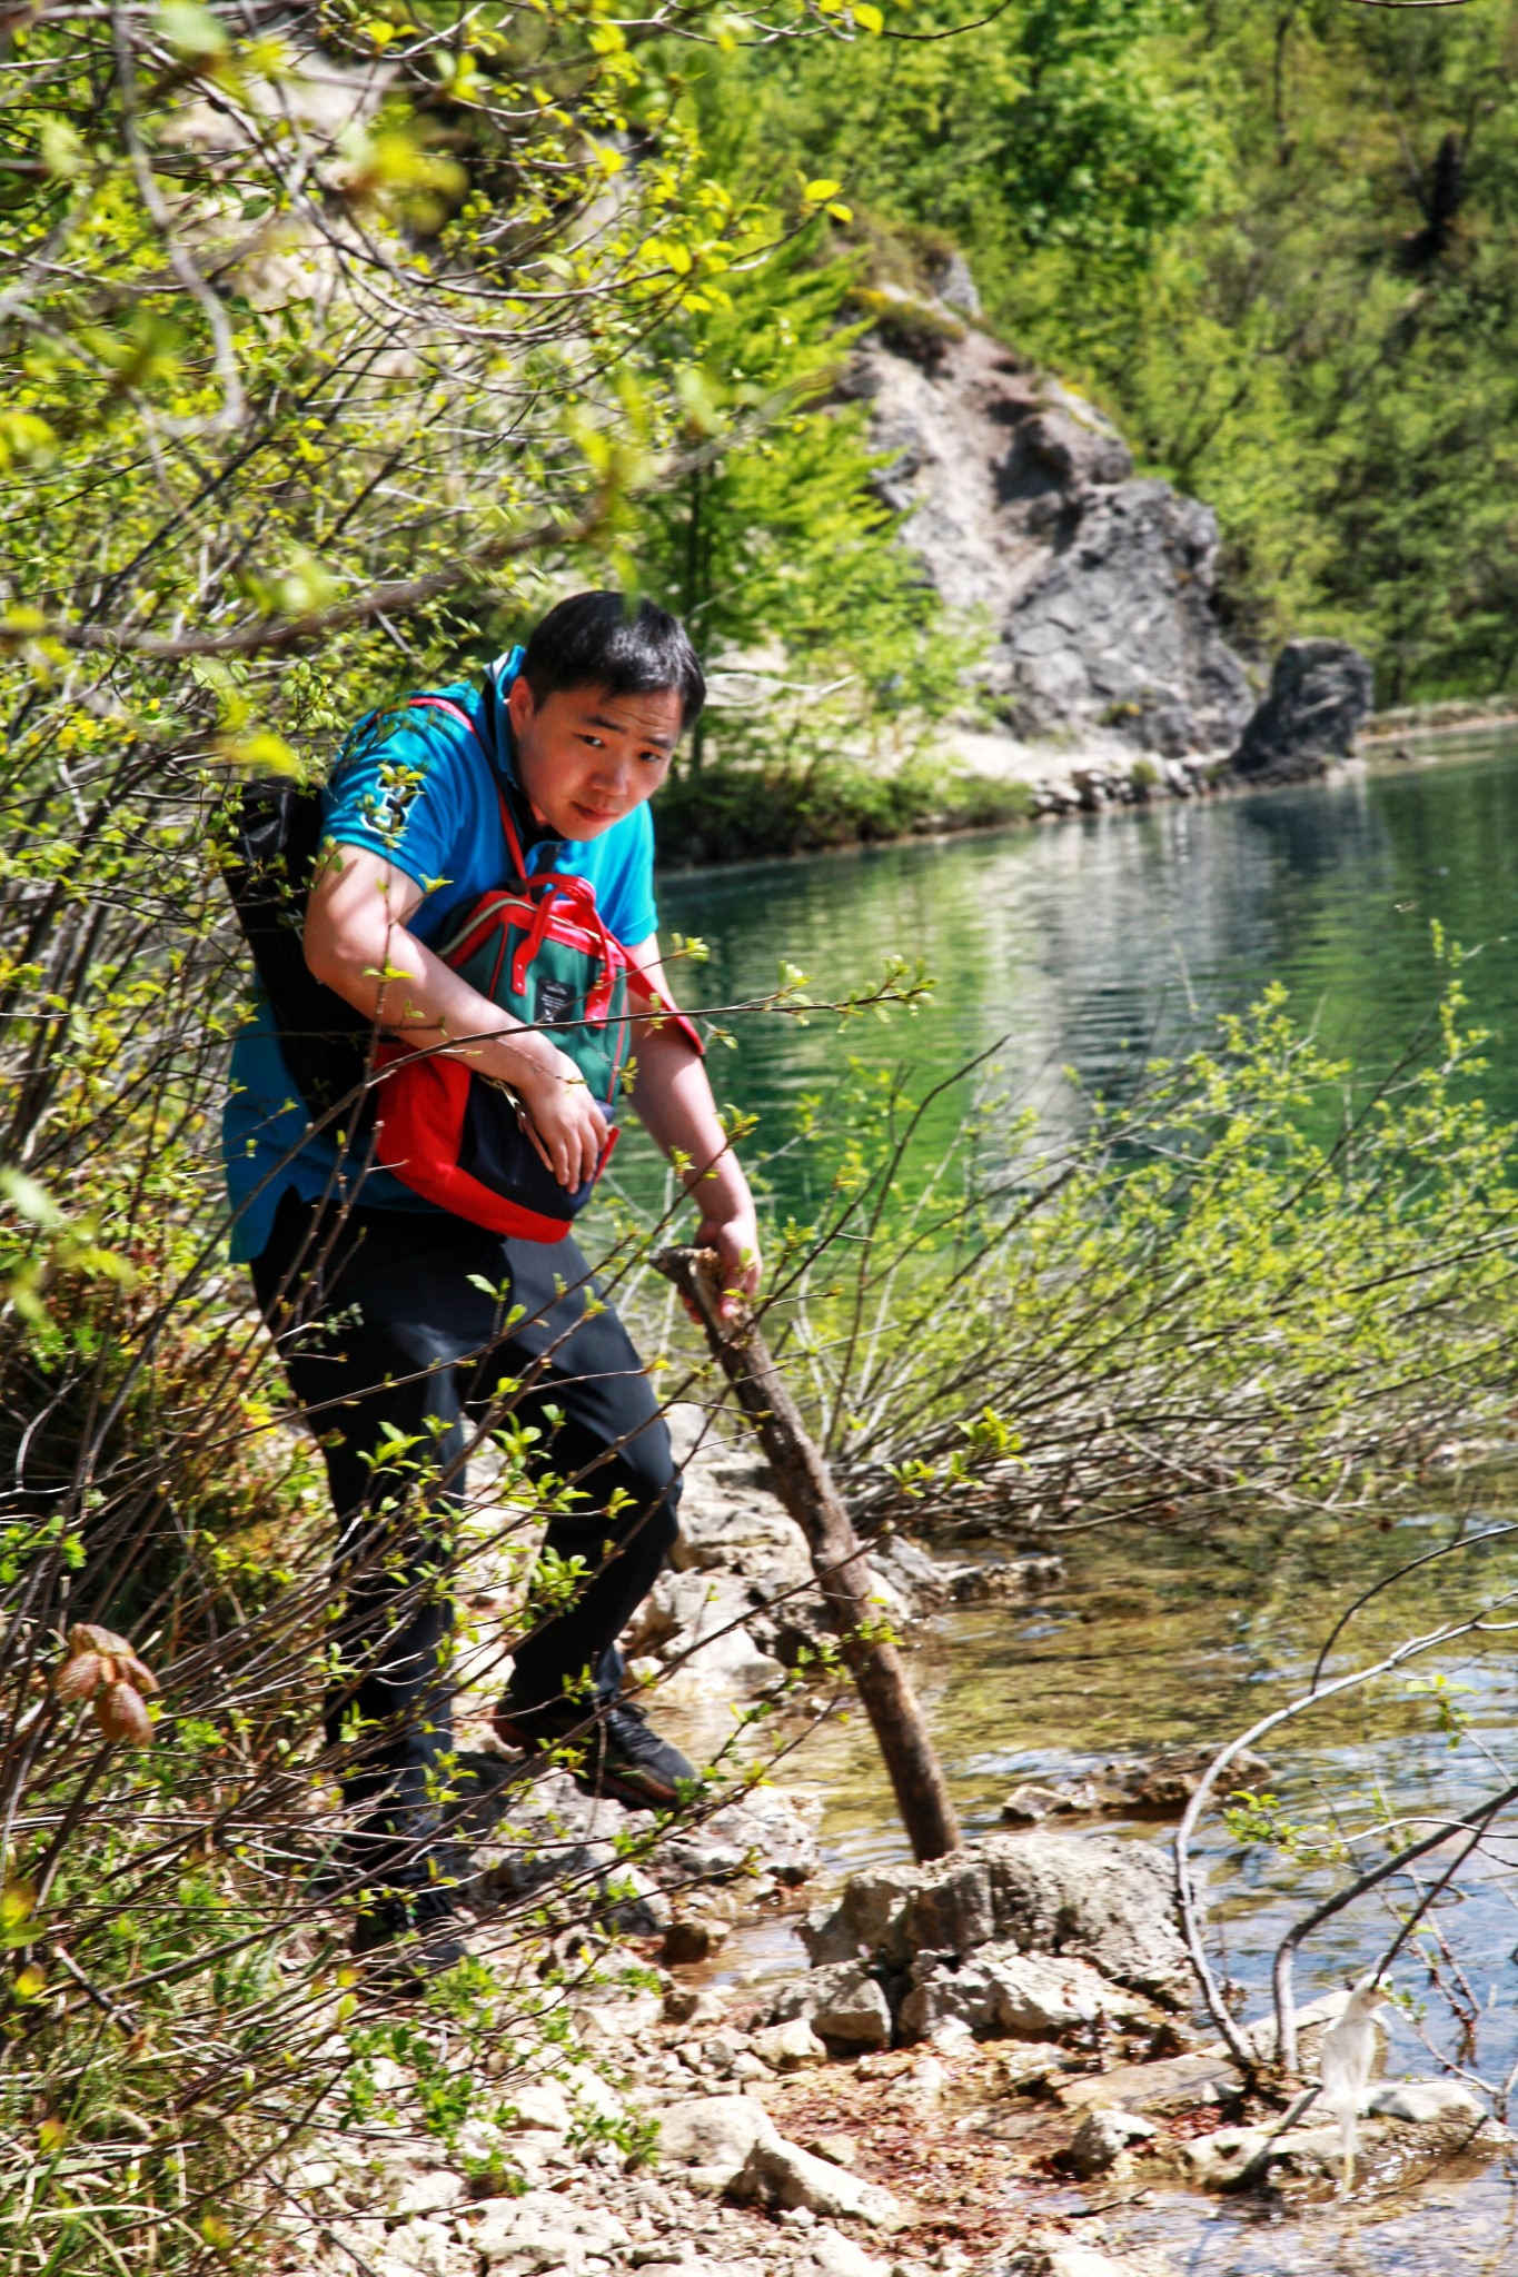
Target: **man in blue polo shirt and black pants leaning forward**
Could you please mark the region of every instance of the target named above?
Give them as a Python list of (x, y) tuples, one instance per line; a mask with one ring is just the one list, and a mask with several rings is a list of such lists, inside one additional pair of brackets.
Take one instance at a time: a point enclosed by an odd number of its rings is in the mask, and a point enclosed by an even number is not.
[[(403, 1025), (407, 1041), (510, 1084), (544, 1164), (576, 1189), (608, 1136), (580, 1070), (428, 943), (508, 879), (505, 797), (528, 868), (587, 877), (605, 924), (671, 1004), (646, 802), (701, 710), (701, 665), (665, 610), (644, 601), (628, 615), (621, 594), (585, 592), (478, 688), (442, 694), (467, 726), (442, 708), (398, 708), (335, 770), (305, 963), (366, 1020)], [(717, 1250), (733, 1307), (758, 1287), (753, 1202), (683, 1025), (640, 1029), (633, 1109), (699, 1202), (696, 1241)], [(546, 1548), (587, 1576), (519, 1642), (496, 1733), (521, 1751), (574, 1742), (587, 1790), (644, 1808), (676, 1801), (692, 1776), (619, 1696), (614, 1642), (676, 1532), (669, 1432), (576, 1243), (455, 1218), (376, 1166), (373, 1148), (314, 1127), (269, 1009), (232, 1052), (223, 1145), (234, 1255), (253, 1264), (339, 1519), (328, 1740), (366, 1892), (355, 1951), (421, 1935), (437, 1965), (457, 1951), (446, 1924), (462, 1858), (439, 1810), (451, 1753), (442, 1576), (467, 1425), (505, 1400), (542, 1432), (544, 1457), (576, 1489)]]

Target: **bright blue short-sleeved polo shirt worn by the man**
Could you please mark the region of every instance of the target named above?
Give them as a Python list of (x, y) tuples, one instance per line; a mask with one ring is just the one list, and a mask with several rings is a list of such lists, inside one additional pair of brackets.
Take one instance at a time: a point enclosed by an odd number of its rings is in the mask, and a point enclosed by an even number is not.
[[(601, 838), (551, 838), (535, 829), (517, 786), (505, 713), (519, 667), (521, 649), (512, 649), (478, 685), (460, 681), (428, 690), (457, 704), (469, 715), (473, 735), (448, 713), (430, 708), (396, 710), (378, 729), (360, 729), (321, 792), (325, 836), (337, 845), (385, 854), (414, 879), (423, 897), (405, 924), (416, 940), (432, 943), (471, 902), (510, 877), (496, 781), (485, 761), (489, 754), (508, 783), (512, 817), (523, 827), (528, 870), (567, 870), (589, 879), (608, 929), (637, 945), (658, 931), (649, 806), (633, 808)], [(287, 1193), (307, 1202), (335, 1195), (362, 1200), (366, 1209), (439, 1216), (432, 1202), (423, 1202), (389, 1170), (364, 1175), (366, 1143), (355, 1150), (355, 1164), (339, 1164), (330, 1134), (307, 1136), (310, 1120), (289, 1079), (269, 1004), (257, 997), (253, 1018), (232, 1045), (221, 1118), (232, 1257), (262, 1252)]]

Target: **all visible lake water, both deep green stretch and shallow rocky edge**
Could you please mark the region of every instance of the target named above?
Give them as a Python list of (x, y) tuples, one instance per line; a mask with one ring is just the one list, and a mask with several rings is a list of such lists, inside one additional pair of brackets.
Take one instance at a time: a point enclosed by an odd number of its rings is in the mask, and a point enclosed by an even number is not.
[[(831, 993), (867, 979), (885, 954), (924, 956), (940, 981), (933, 1016), (876, 1031), (872, 1047), (899, 1054), (922, 1082), (1001, 1043), (1013, 1079), (1036, 1086), (1056, 1116), (1079, 1111), (1056, 1070), (1122, 1091), (1149, 1050), (1195, 1038), (1215, 1011), (1240, 1009), (1268, 981), (1288, 986), (1331, 1050), (1361, 1068), (1388, 1063), (1434, 1000), (1438, 922), (1477, 952), (1466, 986), (1472, 1016), (1493, 1029), (1486, 1095), (1518, 1118), (1516, 886), (1518, 740), (1488, 740), (1438, 765), (1327, 788), (692, 874), (665, 881), (660, 902), (667, 931), (710, 943), (699, 975), (706, 1002), (762, 993), (778, 959)], [(687, 981), (685, 993), (696, 988)], [(760, 1111), (772, 1136), (840, 1052), (860, 1047), (840, 1045), (831, 1022), (799, 1029), (774, 1018), (742, 1022), (740, 1041), (721, 1059), (719, 1091)], [(944, 1104), (944, 1132), (956, 1111)], [(799, 1182), (781, 1166), (783, 1193), (787, 1177)], [(801, 1205), (801, 1184), (785, 1200)], [(972, 1831), (997, 1824), (1020, 1778), (1243, 1731), (1304, 1687), (1329, 1624), (1370, 1580), (1461, 1526), (1513, 1514), (1518, 1491), (1498, 1473), (1468, 1487), (1434, 1482), (1427, 1510), (1391, 1535), (1366, 1526), (1320, 1542), (1261, 1539), (1249, 1567), (1206, 1551), (1072, 1544), (1070, 1583), (1051, 1598), (949, 1614), (913, 1655), (965, 1819)], [(1509, 1544), (1427, 1567), (1356, 1619), (1336, 1667), (1368, 1662), (1504, 1589), (1518, 1589)], [(1450, 1694), (1454, 1717), (1400, 1676), (1293, 1724), (1265, 1749), (1286, 1812), (1306, 1828), (1391, 1815), (1422, 1824), (1502, 1785), (1498, 1758), (1518, 1708), (1513, 1642), (1493, 1635), (1438, 1660), (1461, 1687)], [(858, 1719), (824, 1726), (794, 1769), (826, 1794), (838, 1872), (906, 1856)], [(1170, 1838), (1140, 1824), (1124, 1831)], [(1243, 1849), (1218, 1819), (1202, 1851), (1220, 1958), (1227, 1945), (1249, 2013), (1263, 2013), (1274, 1945), (1345, 1869)], [(1436, 1917), (1438, 1976), (1479, 2011), (1466, 2061), (1486, 2079), (1518, 2063), (1518, 1835), (1498, 1851)], [(1381, 1899), (1327, 1924), (1302, 1956), (1300, 1995), (1352, 1979), (1391, 1929)], [(744, 1976), (767, 1974), (799, 1965), (799, 1949), (776, 1924), (742, 1933), (726, 1960)], [(1404, 1958), (1397, 1981), (1422, 2001), (1422, 2017), (1393, 2020), (1388, 2068), (1427, 2077), (1441, 2056), (1461, 2054), (1459, 2027), (1425, 1960)], [(1172, 2193), (1124, 2220), (1131, 2236), (1163, 2243), (1174, 2268), (1218, 2277), (1434, 2277), (1518, 2270), (1516, 2193), (1513, 2161), (1498, 2159), (1479, 2179), (1452, 2177), (1402, 2204), (1272, 2222)]]

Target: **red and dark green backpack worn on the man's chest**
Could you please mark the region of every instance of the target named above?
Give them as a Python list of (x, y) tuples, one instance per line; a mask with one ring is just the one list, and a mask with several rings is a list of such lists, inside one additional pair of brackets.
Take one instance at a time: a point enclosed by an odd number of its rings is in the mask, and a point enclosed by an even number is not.
[[(480, 747), (469, 713), (457, 704), (446, 697), (412, 697), (412, 704), (460, 720)], [(523, 1241), (560, 1241), (589, 1202), (617, 1145), (614, 1109), (633, 1022), (669, 1020), (696, 1054), (703, 1045), (683, 1013), (658, 1006), (621, 940), (605, 929), (589, 879), (560, 870), (528, 874), (494, 767), (492, 779), (512, 881), (480, 895), (430, 947), (492, 1004), (551, 1036), (589, 1084), (608, 1120), (608, 1141), (592, 1177), (574, 1191), (560, 1186), (528, 1138), (526, 1107), (505, 1084), (435, 1045), (412, 1052), (387, 1038), (376, 1052), (382, 1077), (376, 1164), (471, 1225)]]

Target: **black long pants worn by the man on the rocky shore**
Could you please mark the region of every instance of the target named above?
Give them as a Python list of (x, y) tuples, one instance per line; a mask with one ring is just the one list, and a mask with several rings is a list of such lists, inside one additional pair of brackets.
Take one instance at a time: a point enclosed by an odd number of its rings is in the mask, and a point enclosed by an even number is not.
[(589, 1578), (519, 1642), (514, 1708), (560, 1701), (587, 1671), (617, 1690), (617, 1635), (674, 1542), (680, 1478), (633, 1341), (574, 1241), (284, 1195), (253, 1284), (328, 1464), (344, 1592), (328, 1740), (357, 1708), (344, 1797), (380, 1833), (430, 1810), (451, 1749), (448, 1537), (467, 1421), (514, 1384), (508, 1423), (533, 1425), (535, 1462), (580, 1494), (544, 1548)]

